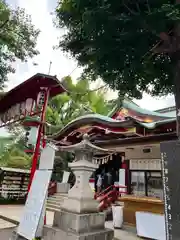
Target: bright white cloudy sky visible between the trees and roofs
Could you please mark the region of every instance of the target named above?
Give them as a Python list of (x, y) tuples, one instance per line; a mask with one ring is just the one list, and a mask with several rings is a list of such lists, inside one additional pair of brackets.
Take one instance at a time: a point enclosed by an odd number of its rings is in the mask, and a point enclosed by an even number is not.
[[(25, 8), (26, 12), (32, 16), (34, 25), (41, 30), (40, 36), (37, 42), (37, 48), (40, 54), (34, 59), (30, 59), (27, 63), (21, 63), (17, 61), (14, 64), (16, 69), (15, 74), (9, 75), (9, 83), (7, 89), (11, 89), (21, 82), (25, 81), (37, 72), (47, 74), (49, 71), (50, 61), (51, 75), (57, 75), (59, 79), (71, 74), (72, 78), (77, 79), (82, 69), (77, 68), (77, 62), (70, 56), (64, 54), (61, 50), (53, 50), (53, 46), (58, 43), (58, 38), (64, 34), (64, 30), (56, 29), (53, 26), (53, 12), (57, 5), (56, 0), (7, 0), (11, 7)], [(33, 62), (37, 63), (37, 66), (33, 65)], [(102, 83), (103, 84), (103, 83)], [(110, 91), (108, 98), (116, 97), (116, 93)], [(165, 108), (167, 106), (174, 105), (174, 97), (168, 96), (165, 98), (152, 98), (148, 95), (144, 95), (142, 100), (136, 101), (141, 107), (156, 110)]]

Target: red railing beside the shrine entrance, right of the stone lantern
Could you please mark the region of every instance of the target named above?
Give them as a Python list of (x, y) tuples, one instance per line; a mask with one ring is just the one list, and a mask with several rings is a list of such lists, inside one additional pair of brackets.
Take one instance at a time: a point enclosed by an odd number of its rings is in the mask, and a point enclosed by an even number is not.
[[(125, 189), (122, 191), (122, 189)], [(99, 210), (103, 211), (110, 207), (115, 201), (118, 200), (118, 197), (121, 194), (127, 194), (126, 186), (109, 186), (104, 191), (100, 192), (99, 194), (95, 194), (95, 199), (99, 201)]]

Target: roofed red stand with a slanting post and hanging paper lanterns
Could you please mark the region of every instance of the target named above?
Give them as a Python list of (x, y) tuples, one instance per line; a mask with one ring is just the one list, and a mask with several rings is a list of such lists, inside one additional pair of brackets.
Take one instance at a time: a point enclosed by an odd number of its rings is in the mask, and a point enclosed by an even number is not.
[(31, 124), (38, 127), (29, 188), (37, 167), (41, 142), (45, 146), (44, 124), (48, 100), (65, 91), (66, 89), (55, 76), (37, 73), (5, 93), (0, 99), (0, 127), (16, 122), (23, 123), (27, 117), (31, 117)]

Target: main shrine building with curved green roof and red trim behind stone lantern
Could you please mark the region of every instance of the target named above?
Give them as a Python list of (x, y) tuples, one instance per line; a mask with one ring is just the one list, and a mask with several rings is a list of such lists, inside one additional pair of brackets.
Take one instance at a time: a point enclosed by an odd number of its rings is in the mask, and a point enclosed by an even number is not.
[[(128, 194), (163, 199), (160, 142), (176, 139), (175, 115), (175, 107), (149, 111), (124, 100), (108, 116), (90, 114), (72, 121), (53, 140), (70, 145), (88, 133), (95, 145), (111, 150), (93, 160), (105, 172), (116, 172), (114, 182), (125, 184)], [(121, 169), (124, 180), (117, 176)]]

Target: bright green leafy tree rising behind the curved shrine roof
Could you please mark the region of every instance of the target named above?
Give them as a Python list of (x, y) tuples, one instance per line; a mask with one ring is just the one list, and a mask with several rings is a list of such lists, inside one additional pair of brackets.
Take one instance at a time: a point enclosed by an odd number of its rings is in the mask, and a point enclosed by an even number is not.
[(90, 89), (87, 79), (78, 79), (73, 84), (71, 77), (63, 79), (63, 85), (68, 89), (67, 93), (60, 94), (50, 100), (46, 112), (47, 122), (52, 131), (61, 129), (73, 119), (87, 113), (98, 113), (107, 115), (112, 109), (111, 104), (105, 99), (106, 89), (99, 88), (98, 91)]

